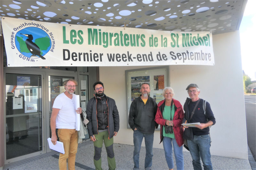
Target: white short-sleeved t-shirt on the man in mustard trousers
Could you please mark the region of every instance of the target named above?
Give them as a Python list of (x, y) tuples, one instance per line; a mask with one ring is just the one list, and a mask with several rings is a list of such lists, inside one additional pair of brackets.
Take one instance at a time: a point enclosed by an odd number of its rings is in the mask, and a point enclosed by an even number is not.
[(56, 129), (76, 129), (75, 99), (75, 94), (69, 99), (66, 94), (61, 93), (54, 100), (52, 107), (60, 109), (56, 117)]

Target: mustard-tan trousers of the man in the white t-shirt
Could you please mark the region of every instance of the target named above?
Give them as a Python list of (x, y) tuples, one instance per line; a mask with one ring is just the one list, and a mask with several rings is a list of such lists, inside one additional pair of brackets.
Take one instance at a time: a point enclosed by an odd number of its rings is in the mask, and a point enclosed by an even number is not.
[(60, 142), (63, 142), (65, 154), (60, 153), (59, 168), (60, 170), (67, 169), (75, 170), (76, 152), (78, 146), (78, 133), (76, 129), (58, 129), (58, 137)]

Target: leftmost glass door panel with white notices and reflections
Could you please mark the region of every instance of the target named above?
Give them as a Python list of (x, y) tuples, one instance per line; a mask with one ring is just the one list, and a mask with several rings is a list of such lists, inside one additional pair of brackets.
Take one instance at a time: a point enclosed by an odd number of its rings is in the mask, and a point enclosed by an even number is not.
[(5, 77), (6, 159), (43, 150), (42, 75)]

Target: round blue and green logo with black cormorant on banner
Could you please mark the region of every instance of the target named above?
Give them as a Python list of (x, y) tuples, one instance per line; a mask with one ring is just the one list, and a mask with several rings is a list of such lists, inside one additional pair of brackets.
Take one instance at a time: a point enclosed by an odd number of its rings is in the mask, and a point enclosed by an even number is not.
[(44, 55), (50, 51), (52, 41), (44, 30), (27, 27), (16, 33), (15, 44), (22, 55), (45, 60)]

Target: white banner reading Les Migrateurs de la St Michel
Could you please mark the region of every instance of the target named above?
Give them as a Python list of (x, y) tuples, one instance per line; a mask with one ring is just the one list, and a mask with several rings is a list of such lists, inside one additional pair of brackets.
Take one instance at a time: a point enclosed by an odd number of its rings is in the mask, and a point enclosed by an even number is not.
[(214, 65), (211, 32), (2, 18), (8, 67)]

